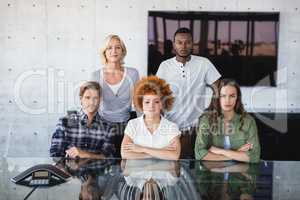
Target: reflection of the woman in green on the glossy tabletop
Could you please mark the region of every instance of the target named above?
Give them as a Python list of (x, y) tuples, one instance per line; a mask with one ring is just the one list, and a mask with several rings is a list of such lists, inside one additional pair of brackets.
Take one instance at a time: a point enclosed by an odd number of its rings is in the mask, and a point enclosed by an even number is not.
[(239, 162), (202, 162), (198, 189), (202, 199), (252, 200), (259, 165)]

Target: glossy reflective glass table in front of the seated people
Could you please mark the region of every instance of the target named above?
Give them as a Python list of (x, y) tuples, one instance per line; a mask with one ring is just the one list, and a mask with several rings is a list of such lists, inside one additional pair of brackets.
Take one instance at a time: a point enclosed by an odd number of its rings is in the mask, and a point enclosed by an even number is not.
[[(52, 187), (11, 178), (37, 164), (56, 164), (71, 178)], [(0, 199), (298, 199), (300, 162), (195, 160), (60, 160), (0, 158)]]

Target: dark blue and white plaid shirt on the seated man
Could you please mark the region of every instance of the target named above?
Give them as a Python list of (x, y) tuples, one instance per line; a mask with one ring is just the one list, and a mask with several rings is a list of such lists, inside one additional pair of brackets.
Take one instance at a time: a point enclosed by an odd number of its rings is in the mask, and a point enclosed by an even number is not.
[(87, 115), (82, 110), (77, 113), (77, 119), (78, 123), (71, 127), (66, 123), (66, 117), (59, 119), (52, 136), (50, 156), (64, 157), (67, 149), (77, 147), (91, 153), (113, 157), (115, 155), (113, 128), (98, 113), (90, 127), (87, 126)]

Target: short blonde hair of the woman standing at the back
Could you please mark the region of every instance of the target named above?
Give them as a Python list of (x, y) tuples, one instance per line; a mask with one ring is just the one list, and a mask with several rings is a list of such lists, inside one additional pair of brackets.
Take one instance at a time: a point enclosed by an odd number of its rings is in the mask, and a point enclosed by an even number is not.
[(109, 43), (112, 40), (118, 40), (121, 44), (121, 48), (122, 48), (122, 59), (121, 59), (121, 64), (124, 64), (124, 58), (127, 54), (127, 50), (126, 50), (126, 46), (123, 42), (123, 40), (118, 36), (118, 35), (108, 35), (105, 39), (104, 39), (104, 46), (100, 49), (100, 58), (101, 58), (101, 62), (103, 65), (107, 64), (107, 58), (105, 56), (105, 52), (109, 46)]

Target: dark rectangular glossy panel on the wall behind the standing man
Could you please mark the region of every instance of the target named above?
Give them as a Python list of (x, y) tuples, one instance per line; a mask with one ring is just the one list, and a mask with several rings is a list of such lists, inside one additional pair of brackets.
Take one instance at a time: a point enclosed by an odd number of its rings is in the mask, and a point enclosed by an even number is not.
[(174, 56), (179, 27), (191, 29), (193, 54), (209, 58), (223, 78), (242, 86), (276, 86), (279, 13), (150, 11), (148, 74)]

